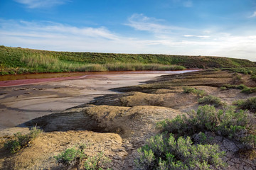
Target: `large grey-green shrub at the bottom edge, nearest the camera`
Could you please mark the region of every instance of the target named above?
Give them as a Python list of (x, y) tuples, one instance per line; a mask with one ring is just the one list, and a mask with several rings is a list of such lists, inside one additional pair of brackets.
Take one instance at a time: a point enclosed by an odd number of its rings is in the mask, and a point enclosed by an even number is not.
[(218, 145), (193, 145), (190, 137), (169, 137), (166, 133), (151, 137), (138, 149), (138, 169), (220, 169), (225, 166)]

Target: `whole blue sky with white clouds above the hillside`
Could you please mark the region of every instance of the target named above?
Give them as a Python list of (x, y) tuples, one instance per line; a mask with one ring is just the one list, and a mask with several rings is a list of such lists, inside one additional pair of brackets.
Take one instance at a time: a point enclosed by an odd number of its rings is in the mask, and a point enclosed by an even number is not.
[(256, 61), (256, 1), (0, 0), (0, 45)]

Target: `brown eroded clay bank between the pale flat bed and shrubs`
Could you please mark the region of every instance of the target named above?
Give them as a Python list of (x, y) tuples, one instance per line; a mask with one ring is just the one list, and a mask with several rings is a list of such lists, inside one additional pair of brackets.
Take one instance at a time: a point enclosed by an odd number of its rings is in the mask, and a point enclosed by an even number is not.
[[(1, 137), (1, 169), (63, 169), (53, 156), (65, 149), (86, 144), (85, 154), (92, 156), (104, 152), (112, 159), (112, 169), (134, 169), (137, 148), (144, 145), (146, 138), (155, 135), (155, 125), (160, 120), (175, 118), (186, 111), (198, 108), (198, 97), (183, 94), (182, 86), (203, 89), (218, 96), (230, 105), (238, 99), (255, 94), (242, 94), (238, 89), (220, 91), (223, 84), (245, 84), (256, 86), (247, 75), (239, 81), (233, 73), (225, 71), (202, 71), (159, 77), (148, 84), (114, 89), (122, 94), (109, 94), (95, 98), (88, 104), (70, 108), (60, 113), (45, 115), (28, 121), (26, 126), (38, 125), (44, 132), (17, 154), (9, 154), (4, 141), (8, 132)], [(26, 128), (22, 128), (26, 132)], [(14, 130), (15, 131), (15, 130)], [(226, 169), (255, 169), (255, 159), (238, 154), (240, 143), (215, 136), (213, 143), (226, 152)], [(81, 162), (82, 164), (82, 162)], [(73, 169), (80, 169), (74, 166)]]

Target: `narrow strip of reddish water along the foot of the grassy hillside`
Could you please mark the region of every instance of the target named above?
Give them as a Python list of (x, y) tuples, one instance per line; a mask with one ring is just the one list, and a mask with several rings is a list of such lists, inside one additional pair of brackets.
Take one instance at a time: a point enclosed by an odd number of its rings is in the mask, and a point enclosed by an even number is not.
[(181, 74), (195, 72), (198, 69), (187, 69), (182, 71), (123, 71), (123, 72), (65, 72), (65, 73), (43, 73), (43, 74), (17, 74), (0, 77), (0, 87), (19, 86), (25, 84), (38, 84), (48, 81), (61, 81), (68, 79), (82, 79), (88, 75), (95, 74)]

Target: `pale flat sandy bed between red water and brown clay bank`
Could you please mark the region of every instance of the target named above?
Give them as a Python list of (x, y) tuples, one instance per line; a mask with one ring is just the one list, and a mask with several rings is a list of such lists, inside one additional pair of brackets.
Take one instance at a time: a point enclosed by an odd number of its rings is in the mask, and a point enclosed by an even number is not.
[[(179, 74), (190, 71), (177, 71)], [(41, 82), (0, 87), (0, 130), (50, 113), (92, 101), (96, 96), (114, 94), (112, 88), (133, 86), (170, 72), (154, 74), (93, 74), (82, 79)], [(31, 81), (29, 81), (31, 83)], [(33, 83), (33, 82), (32, 82)]]

